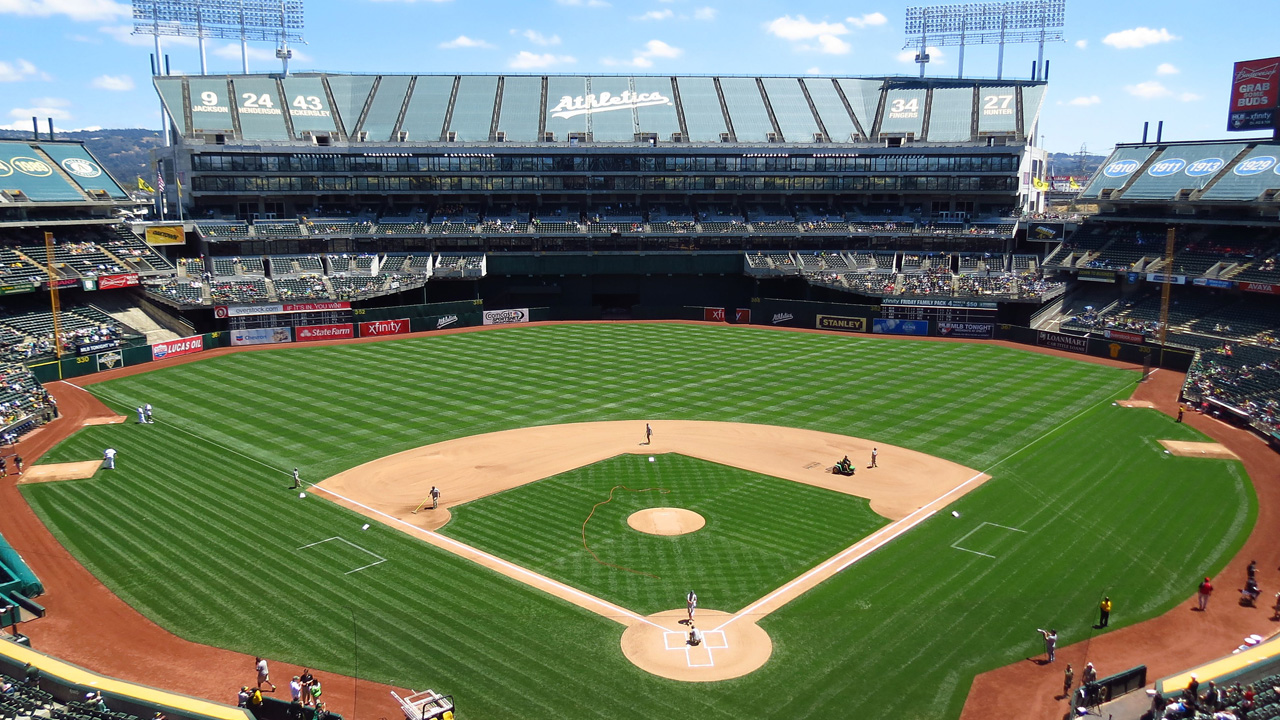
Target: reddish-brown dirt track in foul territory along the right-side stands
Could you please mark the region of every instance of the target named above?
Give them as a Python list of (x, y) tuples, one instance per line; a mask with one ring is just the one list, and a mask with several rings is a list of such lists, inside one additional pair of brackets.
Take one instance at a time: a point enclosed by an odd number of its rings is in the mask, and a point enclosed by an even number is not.
[[(1134, 389), (1133, 400), (1149, 402), (1160, 413), (1176, 416), (1184, 378), (1181, 373), (1160, 370)], [(1187, 413), (1184, 421), (1235, 452), (1244, 462), (1258, 496), (1257, 524), (1242, 551), (1215, 578), (1219, 592), (1208, 612), (1192, 611), (1199, 578), (1181, 578), (1187, 601), (1160, 618), (1094, 635), (1089, 642), (1060, 647), (1057, 662), (1052, 665), (1037, 665), (1034, 660), (1043, 657), (1037, 655), (978, 675), (961, 720), (1062, 717), (1069, 711), (1068, 702), (1056, 698), (1062, 691), (1062, 671), (1068, 662), (1075, 666), (1076, 678), (1085, 662), (1093, 662), (1100, 676), (1146, 665), (1147, 679), (1155, 682), (1229, 655), (1251, 634), (1270, 637), (1277, 632), (1270, 610), (1240, 607), (1235, 602), (1235, 588), (1243, 587), (1249, 560), (1258, 561), (1258, 584), (1263, 591), (1280, 585), (1280, 462), (1276, 454), (1253, 433), (1198, 413)], [(1123, 597), (1112, 600), (1112, 621), (1124, 621), (1125, 606), (1140, 602)], [(1096, 609), (1085, 607), (1080, 612), (1096, 612)]]

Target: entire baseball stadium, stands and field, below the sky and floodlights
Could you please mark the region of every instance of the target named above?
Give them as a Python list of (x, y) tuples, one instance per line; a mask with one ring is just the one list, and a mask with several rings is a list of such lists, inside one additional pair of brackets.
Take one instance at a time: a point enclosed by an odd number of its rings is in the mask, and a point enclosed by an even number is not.
[(1057, 211), (1039, 76), (154, 86), (165, 219), (0, 141), (0, 717), (1280, 716), (1275, 141)]

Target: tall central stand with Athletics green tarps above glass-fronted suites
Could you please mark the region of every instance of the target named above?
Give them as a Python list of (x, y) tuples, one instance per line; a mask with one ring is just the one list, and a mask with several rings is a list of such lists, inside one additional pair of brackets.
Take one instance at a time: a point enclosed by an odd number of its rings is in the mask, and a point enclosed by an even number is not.
[(297, 74), (155, 86), (193, 218), (620, 205), (1007, 217), (1043, 204), (1043, 82)]

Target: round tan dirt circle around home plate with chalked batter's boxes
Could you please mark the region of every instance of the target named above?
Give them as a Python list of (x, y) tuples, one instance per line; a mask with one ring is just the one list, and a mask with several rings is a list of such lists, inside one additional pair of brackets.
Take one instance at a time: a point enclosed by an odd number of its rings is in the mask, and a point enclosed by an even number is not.
[[(732, 620), (717, 610), (698, 610), (694, 623), (703, 643), (689, 644), (685, 610), (664, 610), (627, 625), (622, 653), (646, 673), (672, 680), (709, 683), (740, 678), (758, 670), (773, 653), (773, 641), (750, 618)], [(728, 623), (728, 624), (726, 624)]]

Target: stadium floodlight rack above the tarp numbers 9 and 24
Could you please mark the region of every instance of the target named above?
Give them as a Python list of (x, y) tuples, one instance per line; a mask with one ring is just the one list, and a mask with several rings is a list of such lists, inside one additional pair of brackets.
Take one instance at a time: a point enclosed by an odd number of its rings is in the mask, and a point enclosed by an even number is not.
[(241, 61), (248, 73), (248, 42), (274, 42), (276, 58), (289, 73), (289, 42), (302, 40), (302, 0), (133, 0), (133, 35), (151, 35), (160, 61), (160, 37), (200, 41), (200, 72), (207, 73), (205, 38), (241, 41)]

